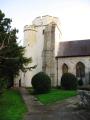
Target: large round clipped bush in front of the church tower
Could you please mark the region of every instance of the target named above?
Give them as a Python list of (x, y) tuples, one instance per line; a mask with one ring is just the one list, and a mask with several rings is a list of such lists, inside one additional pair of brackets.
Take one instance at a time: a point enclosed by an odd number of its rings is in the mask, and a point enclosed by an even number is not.
[(35, 93), (46, 93), (51, 88), (51, 79), (44, 72), (37, 73), (31, 80)]

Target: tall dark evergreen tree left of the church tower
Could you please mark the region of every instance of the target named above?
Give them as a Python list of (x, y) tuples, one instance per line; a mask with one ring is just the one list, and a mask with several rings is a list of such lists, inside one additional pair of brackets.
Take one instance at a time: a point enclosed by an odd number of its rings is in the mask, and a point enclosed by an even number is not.
[(11, 19), (0, 10), (0, 86), (13, 85), (13, 79), (22, 70), (25, 72), (31, 58), (24, 57), (24, 47), (17, 44), (17, 29), (11, 28)]

